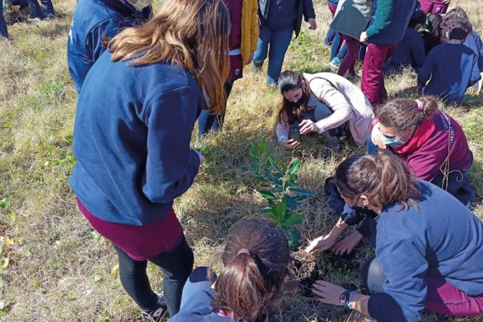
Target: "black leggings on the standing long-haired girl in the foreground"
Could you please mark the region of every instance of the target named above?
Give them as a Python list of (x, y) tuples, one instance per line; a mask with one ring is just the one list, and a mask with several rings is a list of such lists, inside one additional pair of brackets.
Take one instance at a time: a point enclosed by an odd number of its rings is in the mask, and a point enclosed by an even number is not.
[[(148, 261), (135, 261), (124, 250), (114, 248), (119, 256), (119, 277), (124, 290), (143, 310), (153, 310), (157, 305), (157, 295), (152, 292), (146, 274)], [(149, 260), (163, 271), (164, 299), (170, 316), (175, 315), (181, 303), (181, 293), (188, 276), (193, 270), (193, 251), (184, 236), (170, 252), (161, 254)]]

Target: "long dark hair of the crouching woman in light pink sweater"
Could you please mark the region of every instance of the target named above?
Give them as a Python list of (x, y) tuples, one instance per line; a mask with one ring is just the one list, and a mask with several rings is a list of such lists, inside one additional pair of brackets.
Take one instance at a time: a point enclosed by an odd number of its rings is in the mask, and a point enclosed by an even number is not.
[[(282, 123), (282, 121), (284, 121), (288, 124), (293, 124), (296, 121), (302, 121), (308, 100), (311, 97), (311, 88), (308, 86), (308, 81), (304, 79), (304, 75), (293, 70), (286, 70), (280, 74), (278, 88), (280, 94), (282, 94), (282, 105), (278, 112), (278, 122)], [(305, 100), (301, 104), (297, 105), (285, 98), (284, 93), (299, 88), (302, 88), (302, 92), (305, 96)], [(283, 119), (284, 117), (286, 119)]]

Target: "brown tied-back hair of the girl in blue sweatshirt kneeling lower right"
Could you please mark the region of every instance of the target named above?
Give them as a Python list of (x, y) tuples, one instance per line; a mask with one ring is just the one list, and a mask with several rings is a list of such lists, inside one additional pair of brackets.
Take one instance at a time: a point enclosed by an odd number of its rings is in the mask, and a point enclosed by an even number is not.
[(335, 170), (335, 185), (344, 197), (355, 200), (364, 194), (377, 208), (399, 203), (406, 210), (409, 204), (417, 205), (417, 183), (408, 165), (390, 152), (356, 154)]

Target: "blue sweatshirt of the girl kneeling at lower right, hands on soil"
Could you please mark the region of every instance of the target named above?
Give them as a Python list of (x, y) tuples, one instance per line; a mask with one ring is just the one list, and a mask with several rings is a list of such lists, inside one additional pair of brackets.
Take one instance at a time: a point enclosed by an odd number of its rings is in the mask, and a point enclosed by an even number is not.
[[(465, 294), (483, 294), (482, 221), (431, 183), (420, 181), (419, 190), (419, 209), (391, 205), (376, 218), (375, 253), (387, 276), (385, 294), (368, 302), (377, 321), (420, 321), (426, 274), (443, 276)], [(399, 309), (404, 318), (395, 316)]]

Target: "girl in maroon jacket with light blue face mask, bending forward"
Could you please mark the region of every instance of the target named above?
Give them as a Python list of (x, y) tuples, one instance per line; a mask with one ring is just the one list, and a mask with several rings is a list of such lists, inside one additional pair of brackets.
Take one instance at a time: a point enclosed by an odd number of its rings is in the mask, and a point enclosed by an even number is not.
[(474, 192), (466, 173), (473, 153), (460, 124), (437, 110), (433, 97), (390, 101), (379, 108), (377, 122), (372, 143), (391, 147), (419, 179), (443, 188), (465, 205), (471, 203)]

